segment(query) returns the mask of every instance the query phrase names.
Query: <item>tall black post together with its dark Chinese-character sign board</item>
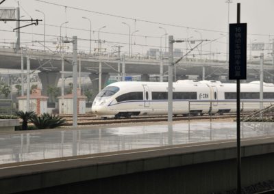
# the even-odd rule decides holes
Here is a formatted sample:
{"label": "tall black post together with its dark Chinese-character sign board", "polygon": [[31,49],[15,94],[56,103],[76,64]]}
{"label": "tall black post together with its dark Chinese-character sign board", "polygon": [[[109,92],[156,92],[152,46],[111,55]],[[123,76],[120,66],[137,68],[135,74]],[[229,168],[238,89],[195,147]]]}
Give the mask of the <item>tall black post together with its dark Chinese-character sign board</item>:
{"label": "tall black post together with its dark Chinese-character sign board", "polygon": [[240,3],[237,3],[237,23],[229,25],[229,79],[237,80],[237,193],[240,194],[240,79],[247,79],[247,24],[240,23]]}

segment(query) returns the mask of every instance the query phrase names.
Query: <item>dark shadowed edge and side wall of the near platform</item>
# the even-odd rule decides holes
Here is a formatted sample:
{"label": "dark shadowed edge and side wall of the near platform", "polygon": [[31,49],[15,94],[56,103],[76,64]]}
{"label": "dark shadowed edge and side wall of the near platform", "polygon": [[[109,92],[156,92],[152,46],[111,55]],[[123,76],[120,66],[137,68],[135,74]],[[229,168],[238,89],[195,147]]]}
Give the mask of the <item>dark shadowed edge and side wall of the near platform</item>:
{"label": "dark shadowed edge and side wall of the near platform", "polygon": [[[274,137],[242,140],[242,186],[274,180]],[[234,140],[1,165],[1,193],[215,193],[236,189]]]}

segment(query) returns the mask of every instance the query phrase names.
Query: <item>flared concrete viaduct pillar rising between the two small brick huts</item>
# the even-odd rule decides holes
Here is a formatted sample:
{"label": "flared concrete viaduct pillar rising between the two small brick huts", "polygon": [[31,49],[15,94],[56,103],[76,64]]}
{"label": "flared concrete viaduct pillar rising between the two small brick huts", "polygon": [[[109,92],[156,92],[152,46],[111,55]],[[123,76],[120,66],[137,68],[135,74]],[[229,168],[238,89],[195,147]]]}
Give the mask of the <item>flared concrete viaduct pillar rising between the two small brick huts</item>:
{"label": "flared concrete viaduct pillar rising between the two small brick huts", "polygon": [[49,85],[51,86],[57,86],[58,81],[61,77],[60,72],[39,72],[38,76],[40,78],[40,81],[42,83],[42,95],[48,96],[47,94],[47,88]]}

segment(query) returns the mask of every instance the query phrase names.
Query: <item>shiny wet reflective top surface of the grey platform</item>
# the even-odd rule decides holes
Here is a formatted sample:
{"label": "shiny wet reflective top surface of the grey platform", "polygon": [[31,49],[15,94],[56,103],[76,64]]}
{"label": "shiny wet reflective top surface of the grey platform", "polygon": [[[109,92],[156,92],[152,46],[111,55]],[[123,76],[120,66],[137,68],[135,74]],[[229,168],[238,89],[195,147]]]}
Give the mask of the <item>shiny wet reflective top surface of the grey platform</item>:
{"label": "shiny wet reflective top surface of the grey platform", "polygon": [[[274,123],[241,123],[241,138],[274,135]],[[33,130],[0,135],[0,164],[236,139],[236,122]]]}

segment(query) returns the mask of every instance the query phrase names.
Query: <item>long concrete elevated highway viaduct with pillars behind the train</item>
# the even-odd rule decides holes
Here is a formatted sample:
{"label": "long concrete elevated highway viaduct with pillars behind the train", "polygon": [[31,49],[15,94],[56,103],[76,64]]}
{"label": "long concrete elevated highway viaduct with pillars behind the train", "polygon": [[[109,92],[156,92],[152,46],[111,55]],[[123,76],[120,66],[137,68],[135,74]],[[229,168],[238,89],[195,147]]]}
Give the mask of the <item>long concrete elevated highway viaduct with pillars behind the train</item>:
{"label": "long concrete elevated highway viaduct with pillars behind the train", "polygon": [[[62,57],[63,56],[63,57]],[[0,47],[0,68],[3,69],[21,69],[21,59],[23,58],[24,70],[26,70],[26,57],[30,59],[31,70],[38,70],[38,75],[42,82],[42,94],[47,94],[48,85],[57,85],[62,72],[62,59],[64,59],[64,72],[72,72],[72,53],[45,52],[40,50],[24,49],[16,51],[10,47]],[[142,81],[149,81],[149,75],[159,75],[160,59],[127,57],[123,63],[122,57],[117,55],[86,55],[79,53],[78,66],[81,64],[82,72],[89,72],[92,81],[93,91],[98,91],[99,77],[99,61],[101,60],[101,85],[104,85],[110,74],[138,74],[141,75]],[[125,64],[125,71],[123,71]],[[167,74],[168,59],[163,60],[162,74]],[[183,59],[175,68],[176,80],[188,79],[189,75],[197,75],[201,79],[203,74],[203,66],[205,67],[206,79],[219,80],[221,76],[228,76],[228,64],[225,61],[199,60],[199,59]],[[274,68],[271,60],[264,60],[265,81],[274,83]],[[260,77],[260,59],[248,61],[247,65],[248,79],[247,81],[258,80]],[[266,79],[269,78],[269,79]]]}

